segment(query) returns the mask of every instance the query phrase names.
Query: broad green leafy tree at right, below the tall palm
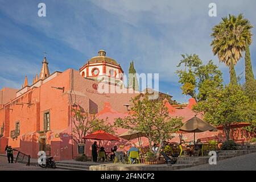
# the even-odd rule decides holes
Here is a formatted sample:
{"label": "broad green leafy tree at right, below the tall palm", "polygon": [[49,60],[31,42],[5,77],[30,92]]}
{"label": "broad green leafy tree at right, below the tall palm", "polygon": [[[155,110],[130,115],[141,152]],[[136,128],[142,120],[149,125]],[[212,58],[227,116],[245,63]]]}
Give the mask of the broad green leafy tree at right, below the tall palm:
{"label": "broad green leafy tree at right, below the tall palm", "polygon": [[[193,106],[193,110],[204,113],[204,120],[214,126],[224,126],[226,139],[229,140],[230,124],[234,122],[253,122],[255,111],[251,110],[250,99],[240,85],[229,84],[222,89],[216,89],[207,100]],[[248,120],[246,120],[248,119]]]}

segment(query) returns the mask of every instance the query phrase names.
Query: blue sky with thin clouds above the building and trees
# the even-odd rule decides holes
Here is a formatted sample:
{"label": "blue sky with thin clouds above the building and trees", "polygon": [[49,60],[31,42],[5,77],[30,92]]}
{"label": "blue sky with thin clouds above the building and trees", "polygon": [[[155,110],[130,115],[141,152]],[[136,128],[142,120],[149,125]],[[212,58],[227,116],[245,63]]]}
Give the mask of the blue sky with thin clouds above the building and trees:
{"label": "blue sky with thin clouds above the building and trees", "polygon": [[[46,17],[38,16],[38,4],[46,3]],[[217,17],[208,15],[209,3],[217,5]],[[20,88],[25,75],[31,83],[40,72],[47,52],[50,72],[79,69],[104,49],[127,73],[134,60],[138,73],[159,73],[159,90],[187,102],[175,74],[181,53],[210,59],[229,82],[228,68],[213,56],[212,27],[228,14],[243,13],[256,26],[256,1],[36,1],[0,0],[0,88]],[[256,74],[255,28],[250,46]],[[242,72],[244,59],[236,65]]]}

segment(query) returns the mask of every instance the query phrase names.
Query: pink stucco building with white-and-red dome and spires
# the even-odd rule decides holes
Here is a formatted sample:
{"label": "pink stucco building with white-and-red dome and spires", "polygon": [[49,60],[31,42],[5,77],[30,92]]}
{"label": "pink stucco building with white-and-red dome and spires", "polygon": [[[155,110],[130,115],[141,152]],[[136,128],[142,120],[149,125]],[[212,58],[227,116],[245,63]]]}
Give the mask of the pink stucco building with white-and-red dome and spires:
{"label": "pink stucco building with white-and-red dome and spires", "polygon": [[[72,140],[72,106],[89,113],[96,112],[99,118],[108,117],[113,123],[115,118],[128,115],[130,99],[139,92],[127,89],[122,83],[121,65],[114,59],[106,57],[105,51],[90,59],[76,71],[67,69],[64,72],[49,73],[48,61],[44,57],[40,75],[36,75],[29,85],[25,78],[22,89],[3,88],[0,93],[0,153],[5,153],[8,144],[37,158],[38,151],[46,151],[56,160],[72,159],[77,155],[77,146]],[[122,93],[101,93],[98,88],[118,88]],[[191,110],[195,100],[183,109],[175,109],[166,103],[171,115],[192,118]],[[125,132],[119,129],[117,135]],[[178,140],[178,134],[174,134]],[[197,137],[214,136],[218,133],[200,133]],[[193,134],[186,134],[189,140]],[[119,141],[123,142],[123,141]],[[136,142],[136,141],[135,141]],[[147,140],[142,140],[147,144]],[[90,155],[90,141],[86,143],[86,154]],[[115,143],[109,143],[112,146]],[[107,147],[108,148],[108,147]]]}

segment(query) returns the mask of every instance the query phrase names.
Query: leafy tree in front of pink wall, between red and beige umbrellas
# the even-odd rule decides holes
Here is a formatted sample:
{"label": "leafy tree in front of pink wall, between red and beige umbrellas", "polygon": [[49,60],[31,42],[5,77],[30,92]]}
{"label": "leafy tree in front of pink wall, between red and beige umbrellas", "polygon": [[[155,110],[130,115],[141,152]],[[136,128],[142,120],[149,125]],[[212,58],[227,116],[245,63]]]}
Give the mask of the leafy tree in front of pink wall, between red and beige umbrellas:
{"label": "leafy tree in front of pink wall, between red and beige umbrellas", "polygon": [[156,154],[159,156],[162,142],[173,138],[172,133],[179,130],[182,118],[170,117],[163,101],[149,100],[147,95],[140,94],[131,101],[131,114],[115,119],[115,126],[145,133],[151,150],[152,142],[159,143]]}

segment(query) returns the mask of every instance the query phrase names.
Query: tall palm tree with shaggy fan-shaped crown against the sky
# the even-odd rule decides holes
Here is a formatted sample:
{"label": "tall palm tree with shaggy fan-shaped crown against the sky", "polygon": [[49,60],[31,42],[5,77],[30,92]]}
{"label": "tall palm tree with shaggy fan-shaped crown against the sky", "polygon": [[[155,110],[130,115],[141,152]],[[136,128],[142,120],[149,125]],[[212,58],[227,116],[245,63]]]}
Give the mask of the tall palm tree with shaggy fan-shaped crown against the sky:
{"label": "tall palm tree with shaggy fan-shaped crown against the sky", "polygon": [[213,40],[210,46],[212,46],[214,55],[217,54],[218,59],[229,67],[231,84],[237,84],[234,65],[245,51],[246,40],[249,45],[251,44],[251,28],[253,26],[250,21],[239,14],[237,17],[229,15],[229,17],[222,18],[222,21],[212,29]]}

